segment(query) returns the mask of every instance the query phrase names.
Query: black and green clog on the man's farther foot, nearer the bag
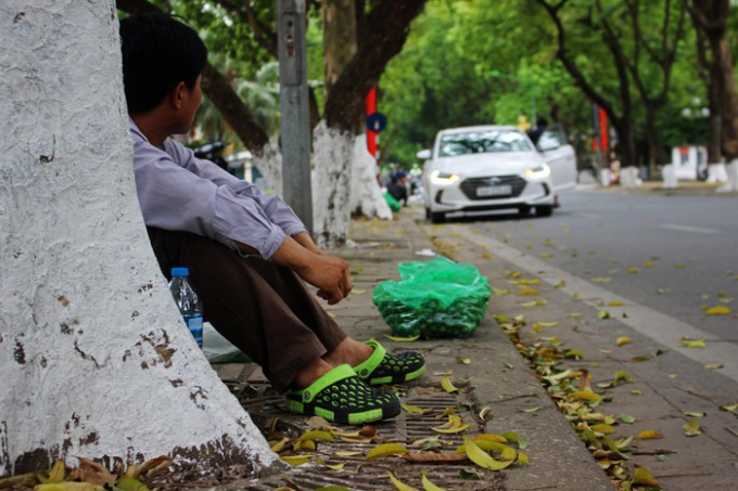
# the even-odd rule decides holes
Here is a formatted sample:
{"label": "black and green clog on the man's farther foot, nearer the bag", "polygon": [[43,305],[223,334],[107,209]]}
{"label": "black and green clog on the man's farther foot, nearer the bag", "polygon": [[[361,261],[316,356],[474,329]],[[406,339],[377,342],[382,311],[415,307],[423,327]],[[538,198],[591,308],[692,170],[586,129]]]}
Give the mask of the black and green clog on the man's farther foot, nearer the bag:
{"label": "black and green clog on the man's farther foot, nearer the bag", "polygon": [[425,360],[417,351],[390,354],[377,341],[366,341],[374,352],[364,363],[354,366],[354,372],[369,385],[403,384],[415,380],[425,372]]}

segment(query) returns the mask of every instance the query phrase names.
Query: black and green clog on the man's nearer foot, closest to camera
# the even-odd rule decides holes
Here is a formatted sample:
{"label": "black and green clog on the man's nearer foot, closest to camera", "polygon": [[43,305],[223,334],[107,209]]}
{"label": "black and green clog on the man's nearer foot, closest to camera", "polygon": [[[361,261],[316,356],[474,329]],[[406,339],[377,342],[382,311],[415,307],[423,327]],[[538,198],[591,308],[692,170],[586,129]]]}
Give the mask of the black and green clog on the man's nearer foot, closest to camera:
{"label": "black and green clog on the man's nearer foot, closest to camera", "polygon": [[369,387],[349,365],[340,365],[308,388],[287,392],[287,409],[348,425],[386,419],[399,414],[394,392]]}

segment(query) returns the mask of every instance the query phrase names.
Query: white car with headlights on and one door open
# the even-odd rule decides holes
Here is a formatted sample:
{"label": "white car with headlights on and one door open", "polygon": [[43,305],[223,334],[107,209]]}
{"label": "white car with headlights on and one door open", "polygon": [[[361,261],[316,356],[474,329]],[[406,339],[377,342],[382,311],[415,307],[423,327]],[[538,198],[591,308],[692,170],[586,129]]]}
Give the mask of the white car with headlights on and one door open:
{"label": "white car with headlights on and one door open", "polygon": [[427,218],[517,208],[550,216],[557,192],[576,184],[576,157],[560,127],[547,127],[538,146],[514,126],[473,126],[438,132],[422,182]]}

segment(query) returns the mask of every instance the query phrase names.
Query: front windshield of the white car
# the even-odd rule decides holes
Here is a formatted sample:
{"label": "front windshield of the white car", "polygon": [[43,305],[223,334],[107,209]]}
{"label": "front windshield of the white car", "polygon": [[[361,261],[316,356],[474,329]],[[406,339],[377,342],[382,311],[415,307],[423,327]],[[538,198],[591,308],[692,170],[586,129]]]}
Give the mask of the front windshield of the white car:
{"label": "front windshield of the white car", "polygon": [[530,152],[532,150],[530,140],[521,131],[497,129],[444,134],[441,137],[438,156],[454,157],[467,154]]}

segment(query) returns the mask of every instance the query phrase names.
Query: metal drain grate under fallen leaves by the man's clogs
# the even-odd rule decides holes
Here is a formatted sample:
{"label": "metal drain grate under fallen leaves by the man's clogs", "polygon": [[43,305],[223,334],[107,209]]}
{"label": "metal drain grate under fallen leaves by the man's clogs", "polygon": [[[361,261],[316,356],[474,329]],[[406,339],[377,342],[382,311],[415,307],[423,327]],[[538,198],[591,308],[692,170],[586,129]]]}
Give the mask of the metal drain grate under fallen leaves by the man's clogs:
{"label": "metal drain grate under fallen leaves by the man's clogs", "polygon": [[[253,388],[253,386],[251,387]],[[427,414],[412,414],[403,411],[392,421],[373,424],[372,426],[378,429],[378,436],[381,436],[384,442],[400,443],[415,452],[416,450],[409,447],[415,441],[440,437],[442,440],[453,443],[444,447],[444,453],[453,452],[456,447],[463,442],[462,435],[440,435],[431,429],[445,423],[446,418],[440,419],[436,416],[442,415],[448,408],[455,408],[456,414],[462,416],[466,423],[471,424],[465,431],[468,437],[482,432],[484,425],[479,425],[473,419],[469,411],[470,403],[465,399],[463,393],[450,395],[433,387],[413,387],[413,391],[416,393],[403,398],[403,402],[432,411]],[[290,437],[296,437],[308,429],[303,416],[293,415],[283,410],[284,399],[268,386],[256,392],[253,390],[241,391],[239,399],[252,415],[254,423],[263,431],[266,426],[275,422],[275,418],[279,418],[280,430]],[[304,464],[293,467],[289,475],[269,476],[247,483],[239,483],[233,489],[262,491],[287,486],[298,490],[313,490],[338,486],[352,491],[394,490],[395,487],[390,481],[387,471],[392,471],[400,481],[417,489],[423,489],[421,471],[424,471],[434,484],[448,490],[504,491],[506,489],[504,475],[482,469],[470,462],[420,464],[407,462],[398,456],[387,456],[367,462],[365,460],[366,454],[378,444],[345,442],[338,439],[334,442],[321,441],[318,442],[314,452],[313,462],[323,461],[331,465],[344,464],[340,471],[321,468],[315,464]],[[360,452],[360,454],[358,456],[338,456],[336,452]],[[473,470],[482,478],[465,479],[460,475],[462,469]]]}

